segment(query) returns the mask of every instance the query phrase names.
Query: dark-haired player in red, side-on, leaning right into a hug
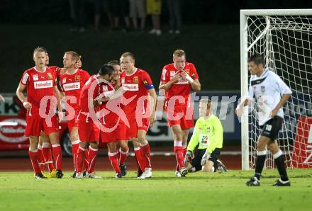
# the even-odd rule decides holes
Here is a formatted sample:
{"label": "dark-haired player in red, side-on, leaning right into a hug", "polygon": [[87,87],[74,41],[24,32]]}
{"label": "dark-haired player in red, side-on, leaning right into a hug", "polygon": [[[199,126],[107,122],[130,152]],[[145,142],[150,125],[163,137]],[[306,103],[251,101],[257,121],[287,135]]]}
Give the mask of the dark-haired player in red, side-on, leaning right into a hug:
{"label": "dark-haired player in red, side-on, leaning right into a hug", "polygon": [[77,173],[76,178],[83,178],[82,163],[84,161],[84,152],[87,150],[89,142],[89,167],[87,169],[87,176],[89,178],[101,178],[94,172],[96,161],[96,154],[99,150],[99,121],[97,119],[96,111],[101,104],[101,81],[111,80],[113,74],[113,67],[104,64],[99,70],[99,73],[93,75],[84,84],[79,98],[80,111],[77,118],[79,139],[79,148],[77,151]]}

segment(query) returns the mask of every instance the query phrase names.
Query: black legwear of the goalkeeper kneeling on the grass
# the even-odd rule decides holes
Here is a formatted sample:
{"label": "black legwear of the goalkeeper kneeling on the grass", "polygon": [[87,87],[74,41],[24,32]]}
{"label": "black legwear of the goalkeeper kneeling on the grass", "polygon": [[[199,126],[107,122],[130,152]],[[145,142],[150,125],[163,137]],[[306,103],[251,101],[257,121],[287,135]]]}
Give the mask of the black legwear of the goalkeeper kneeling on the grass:
{"label": "black legwear of the goalkeeper kneeling on the grass", "polygon": [[[206,149],[196,149],[194,152],[194,159],[191,160],[191,166],[195,167],[196,171],[201,170],[201,159],[204,156]],[[216,148],[211,153],[209,161],[213,161],[214,171],[218,169],[217,159],[220,157],[221,148]]]}

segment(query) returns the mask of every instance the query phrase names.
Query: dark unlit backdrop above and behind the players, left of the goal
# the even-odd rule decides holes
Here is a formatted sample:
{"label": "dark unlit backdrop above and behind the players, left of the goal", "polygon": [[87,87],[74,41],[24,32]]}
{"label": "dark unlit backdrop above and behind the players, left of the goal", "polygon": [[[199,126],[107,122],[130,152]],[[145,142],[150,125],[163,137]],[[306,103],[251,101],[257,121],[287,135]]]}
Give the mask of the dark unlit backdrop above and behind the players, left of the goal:
{"label": "dark unlit backdrop above and behind the players, left of the goal", "polygon": [[[94,2],[86,2],[87,30],[71,33],[69,1],[2,0],[0,6],[0,93],[15,92],[23,71],[33,67],[37,46],[48,49],[50,64],[62,67],[65,51],[82,55],[83,69],[95,73],[101,64],[121,53],[135,54],[136,66],[160,81],[163,65],[172,62],[172,52],[181,48],[198,69],[206,91],[240,89],[240,9],[311,8],[312,1],[221,1],[183,0],[181,35],[169,35],[167,1],[162,0],[163,35],[108,32],[103,14],[100,30],[94,30]],[[122,21],[121,21],[122,22]]]}

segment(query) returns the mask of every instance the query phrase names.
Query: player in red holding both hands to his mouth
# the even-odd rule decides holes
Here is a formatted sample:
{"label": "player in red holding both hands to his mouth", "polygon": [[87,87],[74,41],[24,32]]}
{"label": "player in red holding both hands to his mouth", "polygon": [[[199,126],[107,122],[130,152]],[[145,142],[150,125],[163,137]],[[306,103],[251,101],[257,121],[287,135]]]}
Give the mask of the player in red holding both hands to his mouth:
{"label": "player in red holding both hands to his mouth", "polygon": [[185,176],[184,155],[189,128],[194,127],[190,91],[201,90],[199,76],[194,64],[186,62],[184,50],[175,50],[173,63],[162,69],[160,92],[165,90],[165,110],[168,126],[174,137],[174,154],[177,159],[176,176]]}

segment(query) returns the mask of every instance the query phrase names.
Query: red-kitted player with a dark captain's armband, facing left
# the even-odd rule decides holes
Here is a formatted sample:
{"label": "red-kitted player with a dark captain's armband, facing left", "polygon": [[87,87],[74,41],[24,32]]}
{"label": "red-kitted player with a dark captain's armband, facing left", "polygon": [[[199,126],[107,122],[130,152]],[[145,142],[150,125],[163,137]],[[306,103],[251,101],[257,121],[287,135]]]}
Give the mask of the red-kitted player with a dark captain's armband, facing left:
{"label": "red-kitted player with a dark captain's armband, facing left", "polygon": [[132,53],[123,53],[120,62],[123,105],[128,118],[128,125],[125,122],[128,126],[126,136],[132,139],[135,156],[140,169],[144,171],[139,178],[150,178],[150,144],[145,136],[148,127],[152,127],[155,122],[156,91],[150,75],[135,67],[135,57]]}

